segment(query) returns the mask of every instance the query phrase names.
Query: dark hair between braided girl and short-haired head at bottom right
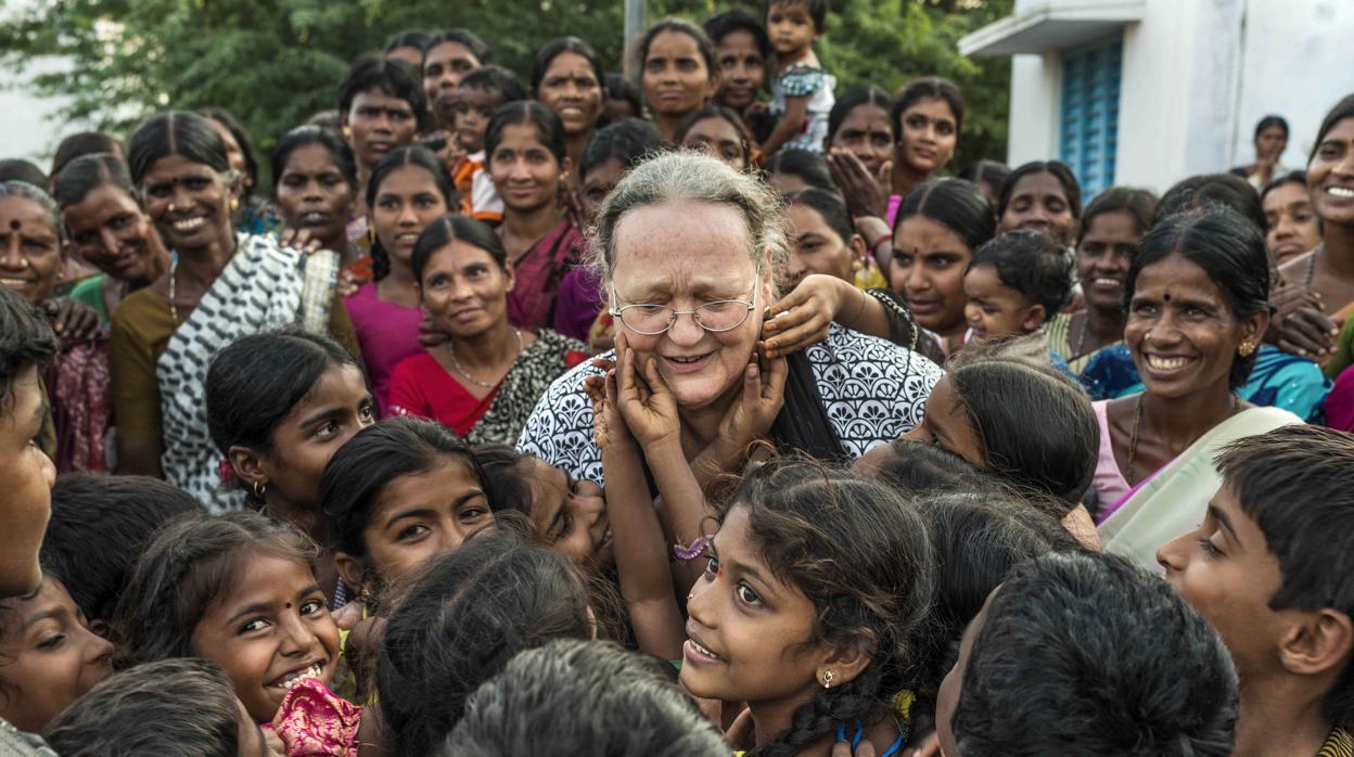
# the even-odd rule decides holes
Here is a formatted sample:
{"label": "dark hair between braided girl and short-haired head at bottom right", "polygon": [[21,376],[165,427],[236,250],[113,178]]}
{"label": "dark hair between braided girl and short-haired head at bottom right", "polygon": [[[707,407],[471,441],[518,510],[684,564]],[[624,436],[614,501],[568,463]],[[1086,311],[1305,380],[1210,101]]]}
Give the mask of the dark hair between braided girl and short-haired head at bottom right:
{"label": "dark hair between braided girl and short-haired head at bottom right", "polygon": [[921,701],[934,701],[940,683],[959,659],[964,628],[1010,569],[1045,553],[1076,551],[1080,546],[1063,524],[1014,494],[915,496],[936,555],[936,604],[930,628],[922,635],[917,695]]}

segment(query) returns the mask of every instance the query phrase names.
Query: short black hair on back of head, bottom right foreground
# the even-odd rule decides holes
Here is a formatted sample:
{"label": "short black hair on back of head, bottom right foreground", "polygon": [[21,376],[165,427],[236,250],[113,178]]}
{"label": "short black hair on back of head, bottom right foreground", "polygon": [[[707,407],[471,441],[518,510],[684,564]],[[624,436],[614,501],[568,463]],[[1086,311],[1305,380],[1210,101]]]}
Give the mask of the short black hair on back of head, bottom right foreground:
{"label": "short black hair on back of head, bottom right foreground", "polygon": [[1164,581],[1099,553],[1016,566],[968,653],[953,731],[964,757],[1225,757],[1236,670]]}

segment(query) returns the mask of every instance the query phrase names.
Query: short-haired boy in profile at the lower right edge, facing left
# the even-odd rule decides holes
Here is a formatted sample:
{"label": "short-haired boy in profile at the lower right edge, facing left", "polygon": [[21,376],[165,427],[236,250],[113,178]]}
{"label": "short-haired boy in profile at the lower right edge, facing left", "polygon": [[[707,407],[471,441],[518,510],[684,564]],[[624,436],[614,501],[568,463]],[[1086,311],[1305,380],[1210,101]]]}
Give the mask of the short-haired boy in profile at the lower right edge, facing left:
{"label": "short-haired boy in profile at the lower right edge, facing left", "polygon": [[1354,436],[1289,425],[1227,446],[1166,580],[1240,673],[1236,757],[1354,754]]}

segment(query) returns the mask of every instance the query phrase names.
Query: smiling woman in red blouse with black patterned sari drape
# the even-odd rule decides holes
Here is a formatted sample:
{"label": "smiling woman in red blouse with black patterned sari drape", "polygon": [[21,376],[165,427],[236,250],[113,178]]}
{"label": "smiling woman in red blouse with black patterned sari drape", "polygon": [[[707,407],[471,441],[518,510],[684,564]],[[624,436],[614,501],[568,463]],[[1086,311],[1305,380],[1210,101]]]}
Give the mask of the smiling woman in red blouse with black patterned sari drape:
{"label": "smiling woman in red blouse with black patterned sari drape", "polygon": [[451,339],[395,366],[393,414],[433,418],[473,443],[512,444],[550,382],[588,358],[581,341],[508,322],[517,280],[506,257],[493,229],[462,215],[418,236],[414,286],[432,328]]}

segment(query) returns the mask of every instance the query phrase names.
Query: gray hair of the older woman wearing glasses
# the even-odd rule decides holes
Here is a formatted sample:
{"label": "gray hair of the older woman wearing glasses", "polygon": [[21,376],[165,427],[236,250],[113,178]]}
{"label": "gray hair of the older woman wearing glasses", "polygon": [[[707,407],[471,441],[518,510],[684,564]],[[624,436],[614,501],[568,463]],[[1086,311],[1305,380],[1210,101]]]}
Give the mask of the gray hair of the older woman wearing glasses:
{"label": "gray hair of the older woman wearing glasses", "polygon": [[784,204],[779,195],[749,173],[739,173],[704,153],[677,150],[662,153],[636,165],[607,195],[589,232],[592,264],[609,282],[616,268],[616,229],[630,211],[682,200],[727,204],[747,222],[751,245],[747,259],[758,274],[766,272],[765,252],[770,251],[772,271],[785,269]]}

